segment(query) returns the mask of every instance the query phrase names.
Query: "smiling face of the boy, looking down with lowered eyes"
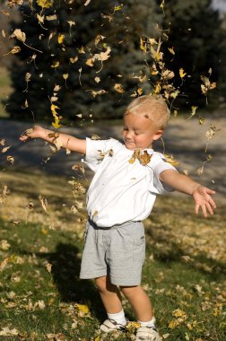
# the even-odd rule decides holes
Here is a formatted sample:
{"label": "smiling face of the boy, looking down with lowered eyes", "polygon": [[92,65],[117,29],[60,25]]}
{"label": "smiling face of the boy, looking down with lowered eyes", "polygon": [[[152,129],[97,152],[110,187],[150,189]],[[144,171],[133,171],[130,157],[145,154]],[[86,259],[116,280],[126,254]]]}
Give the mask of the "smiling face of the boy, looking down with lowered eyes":
{"label": "smiling face of the boy, looking down with lowered eyes", "polygon": [[161,137],[163,131],[156,128],[150,118],[143,114],[128,113],[124,117],[122,136],[127,149],[152,148],[152,142]]}

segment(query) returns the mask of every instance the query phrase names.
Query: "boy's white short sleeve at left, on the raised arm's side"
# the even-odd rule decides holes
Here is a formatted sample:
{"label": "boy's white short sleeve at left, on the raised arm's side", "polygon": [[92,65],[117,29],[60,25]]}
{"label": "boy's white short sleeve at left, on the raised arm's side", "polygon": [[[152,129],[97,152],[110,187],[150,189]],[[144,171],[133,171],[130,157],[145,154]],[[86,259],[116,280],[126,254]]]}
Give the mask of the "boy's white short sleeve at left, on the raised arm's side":
{"label": "boy's white short sleeve at left, on the raised arm's side", "polygon": [[117,140],[91,140],[86,138],[86,154],[84,163],[94,172],[96,172],[104,157],[114,148]]}

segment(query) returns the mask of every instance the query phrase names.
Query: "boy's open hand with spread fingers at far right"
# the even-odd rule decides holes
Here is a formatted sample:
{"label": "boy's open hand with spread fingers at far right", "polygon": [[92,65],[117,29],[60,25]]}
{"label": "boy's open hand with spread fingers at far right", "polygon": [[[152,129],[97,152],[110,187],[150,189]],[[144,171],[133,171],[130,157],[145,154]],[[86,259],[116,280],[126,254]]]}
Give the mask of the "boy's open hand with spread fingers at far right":
{"label": "boy's open hand with spread fingers at far right", "polygon": [[213,209],[216,208],[213,198],[211,197],[213,194],[215,194],[214,190],[201,185],[194,190],[192,196],[194,197],[196,203],[196,214],[198,214],[199,207],[202,207],[205,217],[207,216],[207,212],[209,214],[213,214]]}

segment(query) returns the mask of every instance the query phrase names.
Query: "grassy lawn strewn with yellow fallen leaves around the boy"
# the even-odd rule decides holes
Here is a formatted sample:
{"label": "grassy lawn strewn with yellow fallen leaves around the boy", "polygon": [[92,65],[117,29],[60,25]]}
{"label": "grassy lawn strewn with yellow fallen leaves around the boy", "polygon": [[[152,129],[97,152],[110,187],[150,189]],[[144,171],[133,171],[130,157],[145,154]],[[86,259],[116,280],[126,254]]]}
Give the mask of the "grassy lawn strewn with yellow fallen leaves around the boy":
{"label": "grassy lawn strewn with yellow fallen leaves around the boy", "polygon": [[[73,214],[69,179],[2,172],[0,339],[133,340],[103,336],[105,319],[92,281],[79,279],[85,209]],[[41,197],[39,197],[39,195]],[[84,197],[80,198],[84,202]],[[190,197],[160,197],[145,223],[143,287],[163,339],[222,341],[225,335],[225,211],[207,219]],[[135,316],[125,300],[126,315]]]}

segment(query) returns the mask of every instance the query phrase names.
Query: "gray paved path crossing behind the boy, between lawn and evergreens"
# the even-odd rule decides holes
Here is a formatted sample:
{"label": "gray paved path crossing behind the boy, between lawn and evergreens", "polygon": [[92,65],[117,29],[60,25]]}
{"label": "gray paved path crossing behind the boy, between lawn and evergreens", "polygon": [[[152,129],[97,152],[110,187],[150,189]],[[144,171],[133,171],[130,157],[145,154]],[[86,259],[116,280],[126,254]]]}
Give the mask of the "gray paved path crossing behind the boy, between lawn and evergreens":
{"label": "gray paved path crossing behind the boy, between lawn and evergreens", "polygon": [[[205,132],[210,126],[221,129],[216,133],[209,143],[208,153],[213,155],[213,160],[204,166],[204,173],[198,177],[196,170],[203,164],[206,155],[204,153],[207,142]],[[0,138],[4,138],[7,145],[12,145],[9,153],[13,155],[15,163],[14,169],[17,170],[45,170],[48,173],[64,174],[73,176],[72,165],[81,160],[80,155],[65,151],[52,154],[48,145],[43,141],[32,140],[29,143],[21,143],[19,136],[30,127],[27,122],[8,121],[0,119]],[[121,127],[87,127],[64,128],[61,131],[74,136],[85,137],[97,134],[100,137],[119,137]],[[206,119],[204,125],[200,126],[196,119],[186,120],[185,118],[172,118],[170,125],[164,134],[166,153],[173,154],[174,158],[180,162],[179,170],[188,170],[193,179],[198,179],[205,186],[211,186],[217,191],[217,201],[219,204],[225,202],[226,198],[226,118],[213,117]],[[162,152],[162,144],[158,143],[156,148]],[[47,160],[48,156],[50,160]],[[214,184],[213,184],[214,183]]]}

